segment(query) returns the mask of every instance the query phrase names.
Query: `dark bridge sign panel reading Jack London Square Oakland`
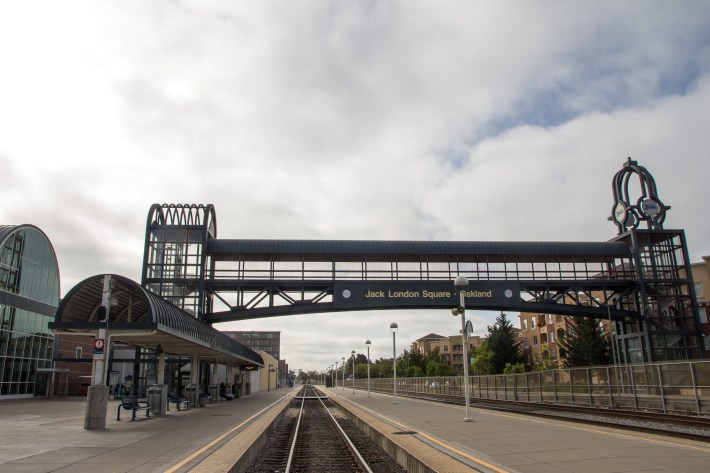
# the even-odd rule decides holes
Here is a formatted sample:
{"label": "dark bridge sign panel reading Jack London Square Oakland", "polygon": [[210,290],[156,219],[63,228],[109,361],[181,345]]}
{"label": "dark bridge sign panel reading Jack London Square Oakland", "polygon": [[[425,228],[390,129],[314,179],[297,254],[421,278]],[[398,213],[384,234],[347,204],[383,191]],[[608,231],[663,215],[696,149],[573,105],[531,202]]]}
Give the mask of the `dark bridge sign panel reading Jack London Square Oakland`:
{"label": "dark bridge sign panel reading Jack London Square Oakland", "polygon": [[[458,305],[459,294],[453,282],[446,281],[372,281],[342,282],[334,287],[333,301],[337,308],[345,307],[452,307]],[[510,304],[519,297],[516,283],[474,282],[464,292],[471,307]]]}

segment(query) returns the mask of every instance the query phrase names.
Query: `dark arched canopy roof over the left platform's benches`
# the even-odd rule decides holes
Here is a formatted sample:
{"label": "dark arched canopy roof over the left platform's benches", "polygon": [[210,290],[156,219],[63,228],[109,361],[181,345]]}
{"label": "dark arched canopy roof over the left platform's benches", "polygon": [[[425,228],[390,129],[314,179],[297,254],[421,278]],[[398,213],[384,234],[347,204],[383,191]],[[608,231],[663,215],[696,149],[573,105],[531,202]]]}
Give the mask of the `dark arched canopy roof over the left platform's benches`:
{"label": "dark arched canopy roof over the left platform's benches", "polygon": [[261,356],[219,330],[142,288],[123,276],[111,275],[108,322],[100,322],[104,275],[77,284],[62,299],[49,328],[58,333],[97,336],[106,328],[111,343],[197,355],[225,365],[264,366]]}

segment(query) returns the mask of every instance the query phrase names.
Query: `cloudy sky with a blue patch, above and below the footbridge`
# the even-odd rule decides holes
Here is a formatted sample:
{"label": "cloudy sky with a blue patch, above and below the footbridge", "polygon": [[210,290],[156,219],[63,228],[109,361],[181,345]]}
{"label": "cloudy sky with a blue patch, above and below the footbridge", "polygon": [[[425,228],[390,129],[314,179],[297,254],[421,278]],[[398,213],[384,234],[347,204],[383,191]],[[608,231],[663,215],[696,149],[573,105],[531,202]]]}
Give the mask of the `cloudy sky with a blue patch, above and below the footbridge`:
{"label": "cloudy sky with a blue patch, above and below the footbridge", "polygon": [[[62,295],[140,281],[153,203],[214,204],[220,238],[606,241],[628,156],[710,255],[707,1],[2,1],[0,68],[0,224],[47,234]],[[391,322],[398,352],[460,328],[217,327],[322,370],[391,356]]]}

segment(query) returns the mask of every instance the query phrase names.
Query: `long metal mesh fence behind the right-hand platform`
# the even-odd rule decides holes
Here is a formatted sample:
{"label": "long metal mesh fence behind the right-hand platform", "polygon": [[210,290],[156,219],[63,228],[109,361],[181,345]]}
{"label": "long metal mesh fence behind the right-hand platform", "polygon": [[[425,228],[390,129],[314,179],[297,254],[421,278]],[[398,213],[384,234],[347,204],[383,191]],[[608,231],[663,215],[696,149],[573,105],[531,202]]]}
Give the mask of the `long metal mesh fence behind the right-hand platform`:
{"label": "long metal mesh fence behind the right-hand platform", "polygon": [[[392,378],[370,378],[370,389],[391,393]],[[355,387],[367,390],[367,379]],[[338,380],[342,387],[343,381]],[[352,388],[353,380],[345,380]],[[710,361],[568,368],[469,376],[472,400],[598,407],[710,416]],[[464,396],[463,376],[397,378],[397,393],[435,398]]]}

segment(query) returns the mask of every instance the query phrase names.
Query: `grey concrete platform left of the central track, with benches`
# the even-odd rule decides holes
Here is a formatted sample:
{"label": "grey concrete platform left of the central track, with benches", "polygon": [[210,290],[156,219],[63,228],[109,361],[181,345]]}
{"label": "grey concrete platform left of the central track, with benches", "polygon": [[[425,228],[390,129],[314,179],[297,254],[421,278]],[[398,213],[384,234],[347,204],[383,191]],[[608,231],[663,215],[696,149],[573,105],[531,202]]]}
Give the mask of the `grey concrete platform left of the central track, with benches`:
{"label": "grey concrete platform left of the central track, with benches", "polygon": [[[189,471],[194,452],[219,439],[290,390],[259,392],[206,407],[147,419],[129,411],[116,421],[109,401],[106,429],[84,430],[85,398],[0,401],[0,471],[119,473]],[[177,466],[176,466],[177,465]]]}

